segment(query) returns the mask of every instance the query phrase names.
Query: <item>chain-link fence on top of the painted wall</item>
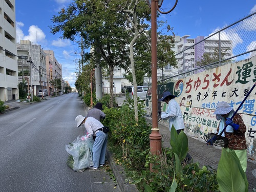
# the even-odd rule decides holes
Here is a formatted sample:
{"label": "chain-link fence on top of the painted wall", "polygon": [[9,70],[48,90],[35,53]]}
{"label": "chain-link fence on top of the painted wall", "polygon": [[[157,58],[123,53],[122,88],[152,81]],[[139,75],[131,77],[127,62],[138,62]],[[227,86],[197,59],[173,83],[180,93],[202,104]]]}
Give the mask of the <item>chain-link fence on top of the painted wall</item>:
{"label": "chain-link fence on top of the painted wall", "polygon": [[160,83],[174,81],[201,71],[256,55],[256,12],[207,37],[176,38],[178,68],[158,72]]}

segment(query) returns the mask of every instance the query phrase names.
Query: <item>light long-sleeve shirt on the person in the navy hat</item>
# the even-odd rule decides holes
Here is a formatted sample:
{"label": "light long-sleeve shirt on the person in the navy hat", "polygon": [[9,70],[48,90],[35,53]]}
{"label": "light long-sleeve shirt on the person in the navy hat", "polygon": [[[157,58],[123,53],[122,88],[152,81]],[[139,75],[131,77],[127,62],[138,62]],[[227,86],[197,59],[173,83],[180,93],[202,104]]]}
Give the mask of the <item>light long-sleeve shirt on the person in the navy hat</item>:
{"label": "light long-sleeve shirt on the person in the navy hat", "polygon": [[173,125],[176,130],[185,128],[180,105],[175,99],[169,100],[167,110],[162,112],[161,118],[164,120],[169,119],[169,130],[172,129]]}

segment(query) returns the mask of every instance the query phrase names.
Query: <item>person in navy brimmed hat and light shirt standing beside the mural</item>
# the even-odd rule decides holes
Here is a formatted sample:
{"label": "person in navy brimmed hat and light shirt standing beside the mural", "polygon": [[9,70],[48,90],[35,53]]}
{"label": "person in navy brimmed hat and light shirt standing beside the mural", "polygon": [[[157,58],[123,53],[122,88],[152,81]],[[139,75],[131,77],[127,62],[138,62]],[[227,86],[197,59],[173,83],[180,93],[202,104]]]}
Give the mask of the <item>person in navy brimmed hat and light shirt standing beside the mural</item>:
{"label": "person in navy brimmed hat and light shirt standing beside the mural", "polygon": [[[180,105],[174,99],[175,97],[177,96],[170,94],[168,91],[164,92],[159,101],[164,101],[166,104],[168,104],[167,110],[165,112],[158,112],[158,114],[161,115],[161,119],[169,119],[169,130],[172,129],[172,126],[174,125],[177,133],[179,134],[181,130],[184,131],[185,125]],[[188,162],[191,159],[192,157],[187,153],[185,161]]]}

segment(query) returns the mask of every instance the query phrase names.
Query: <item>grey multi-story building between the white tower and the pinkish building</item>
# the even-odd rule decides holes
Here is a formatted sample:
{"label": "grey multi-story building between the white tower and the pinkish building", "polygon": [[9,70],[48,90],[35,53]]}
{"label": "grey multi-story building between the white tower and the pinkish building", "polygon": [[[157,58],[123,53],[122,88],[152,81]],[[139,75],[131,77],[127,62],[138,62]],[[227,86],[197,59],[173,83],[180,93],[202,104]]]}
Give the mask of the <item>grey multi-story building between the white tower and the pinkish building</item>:
{"label": "grey multi-story building between the white tower and the pinkish building", "polygon": [[[29,40],[20,40],[17,44],[19,82],[26,77],[30,93],[38,95],[39,90],[47,89],[46,53],[40,45]],[[31,89],[32,88],[32,89]]]}

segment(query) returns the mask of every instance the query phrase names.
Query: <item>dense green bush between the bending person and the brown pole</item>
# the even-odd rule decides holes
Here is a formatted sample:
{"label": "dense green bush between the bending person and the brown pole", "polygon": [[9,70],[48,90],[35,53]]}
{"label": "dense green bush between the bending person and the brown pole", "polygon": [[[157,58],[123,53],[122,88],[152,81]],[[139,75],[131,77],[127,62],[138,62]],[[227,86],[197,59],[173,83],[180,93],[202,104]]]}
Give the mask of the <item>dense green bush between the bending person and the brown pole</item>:
{"label": "dense green bush between the bending person and the brown pole", "polygon": [[134,119],[132,103],[123,104],[121,108],[105,108],[103,111],[106,115],[103,124],[110,127],[109,143],[115,148],[113,152],[121,151],[117,158],[134,170],[144,168],[150,148],[151,126],[145,121],[144,105],[138,104],[138,110],[138,122]]}

